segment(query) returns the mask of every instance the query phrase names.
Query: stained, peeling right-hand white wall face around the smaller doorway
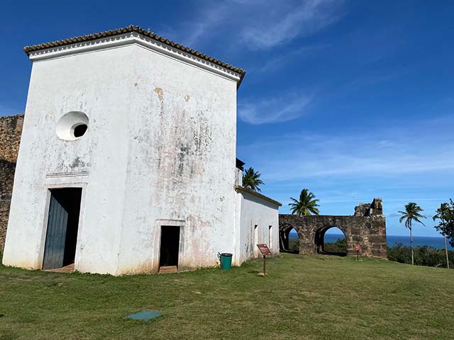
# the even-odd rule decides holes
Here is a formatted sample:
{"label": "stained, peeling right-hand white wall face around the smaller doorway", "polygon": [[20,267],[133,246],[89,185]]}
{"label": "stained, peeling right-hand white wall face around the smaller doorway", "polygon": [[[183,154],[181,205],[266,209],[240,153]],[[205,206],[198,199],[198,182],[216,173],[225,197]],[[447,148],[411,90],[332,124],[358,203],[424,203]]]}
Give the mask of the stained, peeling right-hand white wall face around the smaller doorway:
{"label": "stained, peeling right-hand white wall face around the smaller doorway", "polygon": [[118,271],[157,271],[161,225],[180,226],[179,270],[233,252],[236,81],[134,51]]}

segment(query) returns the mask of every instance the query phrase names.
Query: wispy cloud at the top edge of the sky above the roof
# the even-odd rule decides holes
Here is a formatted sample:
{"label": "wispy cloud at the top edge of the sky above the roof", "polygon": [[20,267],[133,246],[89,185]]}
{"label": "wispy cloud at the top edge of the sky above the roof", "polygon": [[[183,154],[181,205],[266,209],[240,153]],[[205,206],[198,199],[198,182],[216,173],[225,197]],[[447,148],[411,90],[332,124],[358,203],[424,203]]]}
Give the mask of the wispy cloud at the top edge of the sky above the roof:
{"label": "wispy cloud at the top edge of the sky above the roof", "polygon": [[[269,49],[305,37],[335,23],[343,15],[341,0],[274,2],[231,0],[198,1],[192,21],[182,23],[184,45],[200,46],[207,40]],[[183,38],[181,38],[183,37]],[[184,38],[185,37],[185,38]]]}

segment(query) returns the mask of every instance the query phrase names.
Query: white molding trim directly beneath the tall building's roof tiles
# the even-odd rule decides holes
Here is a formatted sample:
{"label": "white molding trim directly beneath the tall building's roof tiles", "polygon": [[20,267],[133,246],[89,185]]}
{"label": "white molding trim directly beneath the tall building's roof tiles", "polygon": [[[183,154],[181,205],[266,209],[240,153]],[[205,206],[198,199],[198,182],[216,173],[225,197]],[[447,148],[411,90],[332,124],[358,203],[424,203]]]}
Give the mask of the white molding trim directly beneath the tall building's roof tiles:
{"label": "white molding trim directly beneath the tall building's roof tiles", "polygon": [[75,42],[70,45],[62,45],[50,47],[45,50],[37,50],[30,53],[29,58],[32,62],[38,62],[41,60],[49,60],[53,58],[65,57],[67,55],[76,55],[85,52],[94,52],[98,50],[106,50],[116,47],[123,47],[126,45],[140,45],[153,50],[162,55],[167,55],[176,60],[192,64],[201,69],[219,74],[223,77],[236,81],[237,83],[241,79],[241,75],[237,72],[222,67],[221,65],[210,62],[203,58],[192,55],[191,53],[184,52],[175,47],[169,46],[163,42],[154,40],[149,37],[145,37],[137,32],[129,32],[120,35],[114,35],[111,37],[100,38],[96,40],[87,40],[84,42]]}

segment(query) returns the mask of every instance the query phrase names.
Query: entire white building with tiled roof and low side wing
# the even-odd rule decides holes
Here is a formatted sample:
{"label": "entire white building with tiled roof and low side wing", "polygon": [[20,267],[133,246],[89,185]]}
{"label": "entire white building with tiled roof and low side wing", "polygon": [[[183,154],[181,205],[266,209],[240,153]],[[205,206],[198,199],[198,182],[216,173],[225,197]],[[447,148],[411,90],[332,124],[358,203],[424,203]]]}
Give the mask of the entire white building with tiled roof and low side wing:
{"label": "entire white building with tiled roof and low side wing", "polygon": [[280,203],[238,181],[243,69],[136,26],[24,50],[5,265],[121,275],[278,254]]}

